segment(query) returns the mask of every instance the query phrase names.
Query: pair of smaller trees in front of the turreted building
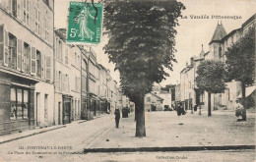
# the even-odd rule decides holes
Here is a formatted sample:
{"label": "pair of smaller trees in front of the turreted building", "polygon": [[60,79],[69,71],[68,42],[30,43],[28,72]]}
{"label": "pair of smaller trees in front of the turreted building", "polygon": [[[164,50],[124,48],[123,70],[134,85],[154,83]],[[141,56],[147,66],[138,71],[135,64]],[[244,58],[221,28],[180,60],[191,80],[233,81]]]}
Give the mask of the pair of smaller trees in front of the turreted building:
{"label": "pair of smaller trees in front of the turreted building", "polygon": [[[242,104],[245,107],[245,87],[255,81],[255,27],[224,53],[225,63],[221,61],[204,61],[197,70],[197,85],[208,92],[208,116],[211,116],[211,93],[222,93],[227,81],[240,81],[242,87]],[[246,115],[245,119],[246,120]]]}

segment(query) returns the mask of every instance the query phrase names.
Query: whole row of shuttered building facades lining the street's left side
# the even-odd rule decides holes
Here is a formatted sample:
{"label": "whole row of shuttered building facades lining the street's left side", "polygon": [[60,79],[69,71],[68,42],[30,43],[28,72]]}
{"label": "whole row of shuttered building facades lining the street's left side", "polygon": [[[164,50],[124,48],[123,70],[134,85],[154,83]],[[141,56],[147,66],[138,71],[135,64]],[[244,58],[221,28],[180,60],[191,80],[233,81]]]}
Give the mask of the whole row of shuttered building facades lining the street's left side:
{"label": "whole row of shuttered building facades lining the street's left side", "polygon": [[54,30],[54,0],[0,0],[0,135],[109,113],[116,84],[91,47]]}

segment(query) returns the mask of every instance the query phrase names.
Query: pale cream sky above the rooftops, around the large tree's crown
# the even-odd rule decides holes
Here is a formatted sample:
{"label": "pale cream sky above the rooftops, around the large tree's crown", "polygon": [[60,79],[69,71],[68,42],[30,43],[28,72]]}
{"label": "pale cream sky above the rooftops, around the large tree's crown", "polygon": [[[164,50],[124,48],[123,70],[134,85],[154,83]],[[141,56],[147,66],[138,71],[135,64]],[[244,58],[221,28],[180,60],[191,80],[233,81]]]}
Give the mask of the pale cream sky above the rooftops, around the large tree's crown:
{"label": "pale cream sky above the rooftops, around the large tree's crown", "polygon": [[[82,0],[75,0],[82,1]],[[85,0],[84,0],[85,1]],[[177,64],[173,64],[173,71],[166,70],[169,78],[161,81],[160,85],[177,83],[180,71],[185,68],[186,62],[194,55],[198,56],[203,49],[209,51],[209,42],[212,39],[218,22],[224,25],[226,33],[241,27],[253,14],[256,14],[256,0],[177,0],[182,2],[186,10],[182,11],[183,19],[179,18],[177,30],[176,50],[174,53]],[[67,28],[68,0],[55,0],[55,27]],[[191,19],[190,16],[209,16],[209,19]],[[241,19],[212,19],[212,16],[237,16]],[[184,19],[187,17],[187,19]],[[119,82],[119,73],[114,71],[114,64],[109,63],[107,54],[102,47],[107,43],[106,36],[93,48],[97,54],[97,62],[110,70],[113,80]],[[119,83],[118,83],[119,84]]]}

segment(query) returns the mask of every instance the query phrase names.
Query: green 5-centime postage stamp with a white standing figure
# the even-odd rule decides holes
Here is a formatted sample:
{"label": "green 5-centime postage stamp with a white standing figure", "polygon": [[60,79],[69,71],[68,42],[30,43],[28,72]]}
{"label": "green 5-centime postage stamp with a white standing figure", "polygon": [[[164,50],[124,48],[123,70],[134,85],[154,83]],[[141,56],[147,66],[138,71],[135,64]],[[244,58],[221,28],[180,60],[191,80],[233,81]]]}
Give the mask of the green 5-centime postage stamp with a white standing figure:
{"label": "green 5-centime postage stamp with a white standing figure", "polygon": [[69,4],[67,42],[98,44],[101,38],[102,3],[73,2]]}

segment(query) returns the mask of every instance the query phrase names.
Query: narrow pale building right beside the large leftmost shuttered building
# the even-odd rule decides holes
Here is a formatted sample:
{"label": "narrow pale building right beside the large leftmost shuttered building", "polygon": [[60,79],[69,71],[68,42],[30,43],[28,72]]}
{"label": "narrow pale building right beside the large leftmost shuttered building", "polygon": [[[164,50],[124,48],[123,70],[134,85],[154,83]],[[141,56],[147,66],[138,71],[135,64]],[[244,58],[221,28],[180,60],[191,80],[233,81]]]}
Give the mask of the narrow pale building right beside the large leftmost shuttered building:
{"label": "narrow pale building right beside the large leftmost shuttered building", "polygon": [[55,30],[55,123],[81,119],[81,53],[83,48],[66,43],[66,29]]}

